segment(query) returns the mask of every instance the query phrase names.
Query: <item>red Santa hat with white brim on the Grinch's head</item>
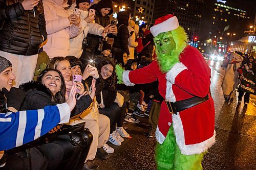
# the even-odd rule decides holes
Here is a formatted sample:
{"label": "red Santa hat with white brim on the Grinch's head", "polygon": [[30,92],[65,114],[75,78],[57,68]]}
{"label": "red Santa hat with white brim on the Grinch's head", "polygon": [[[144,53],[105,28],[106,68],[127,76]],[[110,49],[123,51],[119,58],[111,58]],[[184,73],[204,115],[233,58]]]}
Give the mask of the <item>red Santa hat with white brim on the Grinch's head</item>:
{"label": "red Santa hat with white brim on the Grinch's head", "polygon": [[150,28],[151,33],[156,37],[160,33],[173,31],[179,27],[179,21],[176,16],[167,14],[156,19],[153,27]]}

